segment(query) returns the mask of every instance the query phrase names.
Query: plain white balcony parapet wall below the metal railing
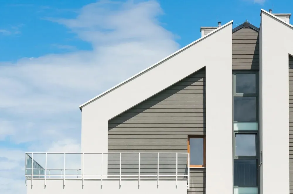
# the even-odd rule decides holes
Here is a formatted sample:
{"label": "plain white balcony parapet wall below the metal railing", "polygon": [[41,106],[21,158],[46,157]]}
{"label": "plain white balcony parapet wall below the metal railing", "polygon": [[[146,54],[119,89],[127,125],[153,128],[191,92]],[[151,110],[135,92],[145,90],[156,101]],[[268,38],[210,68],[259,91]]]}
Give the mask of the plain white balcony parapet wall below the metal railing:
{"label": "plain white balcony parapet wall below the metal railing", "polygon": [[100,180],[84,180],[82,186],[81,179],[66,180],[63,187],[63,179],[38,179],[33,180],[31,187],[30,180],[27,182],[27,194],[186,194],[186,180],[179,180],[176,186],[176,181],[159,181],[157,186],[156,180],[141,180],[139,187],[138,181],[122,180],[119,186],[119,180],[103,180],[101,186]]}

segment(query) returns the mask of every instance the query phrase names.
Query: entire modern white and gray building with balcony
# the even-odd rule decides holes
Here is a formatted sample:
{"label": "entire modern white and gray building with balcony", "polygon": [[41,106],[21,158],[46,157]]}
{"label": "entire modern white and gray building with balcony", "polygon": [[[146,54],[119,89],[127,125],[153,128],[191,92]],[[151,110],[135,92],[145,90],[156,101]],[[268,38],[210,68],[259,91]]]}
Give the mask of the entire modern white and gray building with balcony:
{"label": "entire modern white and gray building with balcony", "polygon": [[82,153],[27,153],[28,194],[293,193],[290,15],[201,27],[81,105]]}

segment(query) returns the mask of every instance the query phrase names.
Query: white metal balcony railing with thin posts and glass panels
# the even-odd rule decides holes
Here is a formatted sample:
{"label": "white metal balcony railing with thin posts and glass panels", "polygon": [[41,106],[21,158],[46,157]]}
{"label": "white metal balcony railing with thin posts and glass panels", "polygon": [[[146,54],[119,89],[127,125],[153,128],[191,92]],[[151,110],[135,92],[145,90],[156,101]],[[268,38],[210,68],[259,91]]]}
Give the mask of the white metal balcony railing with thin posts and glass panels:
{"label": "white metal balcony railing with thin posts and glass panels", "polygon": [[[32,158],[32,161],[36,160],[36,161],[38,161],[39,164],[42,164],[42,166],[45,166],[45,167],[43,167],[45,173],[40,175],[40,174],[35,173],[34,170],[40,170],[40,169],[34,168],[33,162],[29,168],[28,168],[27,164],[25,165],[25,167],[26,167],[25,168],[25,177],[26,177],[26,179],[31,179],[31,182],[30,182],[31,185],[33,185],[33,179],[44,179],[45,185],[46,185],[47,179],[63,179],[63,185],[65,185],[66,179],[81,179],[82,186],[84,185],[85,179],[99,179],[101,181],[101,186],[103,186],[103,179],[112,179],[112,180],[119,180],[119,185],[121,186],[121,181],[127,179],[127,180],[137,180],[138,185],[140,184],[140,180],[157,180],[157,186],[159,186],[159,180],[176,180],[176,186],[178,185],[178,180],[186,180],[187,181],[187,188],[189,189],[189,186],[190,186],[190,168],[189,168],[190,167],[190,157],[189,157],[189,153],[43,153],[43,152],[35,152],[35,153],[25,153],[25,154],[29,155],[29,157]],[[42,155],[42,157],[40,157],[40,155]],[[53,157],[53,159],[51,158],[51,160],[50,160],[48,158],[50,155],[55,155],[55,157]],[[56,157],[56,155],[58,155],[58,157]],[[60,158],[60,155],[63,155],[63,157]],[[75,157],[75,159],[68,159],[69,155],[79,155],[79,157]],[[86,158],[85,158],[86,156],[97,156],[97,155],[100,156],[100,158],[95,159],[93,157],[90,157],[89,160],[86,161]],[[107,157],[105,157],[105,155]],[[116,157],[117,159],[119,158],[119,169],[117,169],[117,171],[119,171],[119,172],[112,172],[113,174],[109,174],[109,173],[103,174],[103,169],[108,169],[109,166],[111,165],[111,164],[108,164],[108,157],[109,157],[108,155],[112,155],[111,157]],[[113,156],[113,155],[118,155],[118,156]],[[122,168],[122,165],[127,165],[127,164],[122,164],[122,162],[123,162],[122,156],[123,155],[127,155],[127,156],[124,156],[126,158],[127,157],[134,158],[135,156],[132,156],[132,155],[138,155],[138,158],[137,158],[137,160],[138,160],[138,173],[137,174],[135,174],[135,173],[125,174],[124,172],[122,172],[122,169],[126,169],[126,168]],[[154,156],[151,156],[151,157],[153,157],[154,159],[156,158],[156,160],[150,160],[149,159],[150,156],[143,157],[142,155],[155,155],[155,157]],[[179,161],[182,164],[185,164],[184,169],[179,168],[180,170],[184,170],[183,174],[179,174],[179,172],[178,172],[178,155],[183,155],[183,157],[181,156],[180,158],[184,158],[183,160]],[[165,158],[165,160],[162,160],[161,157],[163,159]],[[174,164],[160,164],[160,162],[167,162],[167,163],[169,162],[170,163],[170,160],[168,160],[166,158],[173,158],[173,157],[175,158],[175,160],[173,162],[176,162],[175,169],[170,167]],[[142,158],[147,158],[147,160],[144,160],[144,162],[150,163],[150,164],[143,164],[144,166],[150,165],[150,166],[154,167],[156,165],[156,173],[148,173],[148,172],[142,173],[141,172],[141,170],[143,169],[143,168],[141,168]],[[42,160],[42,159],[44,159],[44,160]],[[39,160],[42,160],[42,162]],[[81,166],[81,167],[67,168],[66,162],[68,162],[68,161],[69,161],[69,163],[71,162],[71,166],[73,163],[77,164],[80,162],[81,164],[79,164],[79,166]],[[90,161],[90,164],[86,165],[86,168],[85,168],[85,163],[87,163],[89,161]],[[104,168],[103,168],[103,163],[105,163],[105,161],[107,162],[108,166],[107,167],[104,166]],[[132,162],[133,161],[135,161],[135,160],[132,160]],[[155,161],[156,161],[156,164],[151,164],[151,162],[155,162]],[[97,167],[97,164],[99,162],[100,162],[100,166]],[[126,162],[130,162],[130,160],[126,160]],[[53,164],[53,167],[48,168],[49,163],[51,166]],[[62,164],[62,168],[59,167],[60,164]],[[180,166],[183,166],[182,164],[180,164]],[[56,165],[58,167],[54,167],[54,165]],[[112,165],[118,165],[118,164],[112,164]],[[130,165],[133,165],[133,164],[130,164]],[[169,174],[159,173],[161,165],[166,165],[166,166],[170,167],[170,168],[164,168],[164,170]],[[135,166],[135,164],[133,166]],[[96,169],[96,170],[100,171],[100,173],[86,174],[85,173],[86,169]],[[130,169],[130,168],[127,168],[127,169]],[[133,167],[131,169],[136,169],[136,168]],[[154,168],[150,168],[150,169],[154,169]],[[176,173],[172,174],[172,170],[176,171]],[[52,173],[52,172],[56,172],[56,171],[58,171],[59,173]],[[71,171],[71,173],[69,173],[69,171]],[[27,172],[29,172],[29,174]],[[77,172],[77,174],[76,174],[76,172]],[[166,177],[166,178],[161,178],[161,177]],[[183,178],[180,178],[180,177],[183,177]]]}

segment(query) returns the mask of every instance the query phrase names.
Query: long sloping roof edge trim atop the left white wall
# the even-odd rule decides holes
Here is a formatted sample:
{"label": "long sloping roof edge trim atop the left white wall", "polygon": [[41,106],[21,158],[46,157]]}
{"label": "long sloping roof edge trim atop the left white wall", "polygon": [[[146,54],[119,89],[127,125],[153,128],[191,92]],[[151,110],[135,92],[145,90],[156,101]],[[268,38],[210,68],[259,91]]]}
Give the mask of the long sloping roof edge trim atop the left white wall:
{"label": "long sloping roof edge trim atop the left white wall", "polygon": [[152,68],[154,68],[154,67],[156,67],[157,65],[161,64],[161,63],[164,62],[165,60],[171,58],[172,56],[174,56],[174,55],[176,55],[176,54],[178,54],[178,53],[180,53],[181,51],[183,51],[183,50],[185,50],[186,48],[192,46],[193,44],[195,44],[195,43],[201,41],[202,39],[205,39],[205,38],[211,36],[212,34],[216,33],[217,31],[221,30],[222,28],[224,28],[224,27],[226,27],[226,26],[228,26],[228,25],[230,25],[230,24],[232,24],[232,23],[233,23],[233,20],[231,20],[230,22],[228,22],[228,23],[226,23],[226,24],[224,24],[224,25],[218,27],[216,30],[210,32],[209,34],[206,34],[205,36],[203,36],[203,37],[201,37],[201,38],[199,38],[199,39],[193,41],[192,43],[190,43],[190,44],[184,46],[183,48],[180,48],[178,51],[172,53],[171,55],[169,55],[169,56],[167,56],[167,57],[165,57],[165,58],[163,58],[162,60],[158,61],[158,62],[155,63],[154,65],[151,65],[151,66],[147,67],[146,69],[142,70],[141,72],[139,72],[139,73],[133,75],[132,77],[130,77],[130,78],[124,80],[123,82],[120,82],[119,84],[113,86],[112,88],[110,88],[110,89],[104,91],[103,93],[99,94],[98,96],[92,98],[91,100],[89,100],[89,101],[83,103],[82,105],[79,106],[79,109],[81,110],[84,106],[88,105],[89,103],[91,103],[91,102],[97,100],[98,98],[100,98],[100,97],[106,95],[107,93],[113,91],[114,89],[116,89],[116,88],[118,88],[118,87],[120,87],[120,86],[126,84],[127,82],[131,81],[131,80],[134,79],[135,77],[137,77],[137,76],[143,74],[144,72],[147,72],[148,70],[151,70]]}

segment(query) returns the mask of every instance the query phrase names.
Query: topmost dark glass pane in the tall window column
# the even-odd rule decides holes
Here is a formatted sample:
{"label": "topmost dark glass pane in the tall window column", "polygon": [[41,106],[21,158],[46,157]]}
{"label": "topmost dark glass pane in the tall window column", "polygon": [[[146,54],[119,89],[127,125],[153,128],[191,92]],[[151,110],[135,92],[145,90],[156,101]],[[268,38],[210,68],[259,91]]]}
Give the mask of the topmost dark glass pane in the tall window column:
{"label": "topmost dark glass pane in the tall window column", "polygon": [[256,74],[236,73],[236,93],[255,93]]}

